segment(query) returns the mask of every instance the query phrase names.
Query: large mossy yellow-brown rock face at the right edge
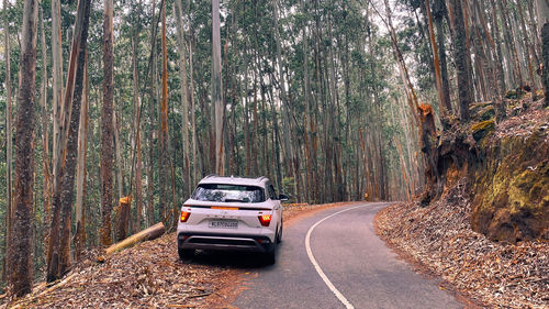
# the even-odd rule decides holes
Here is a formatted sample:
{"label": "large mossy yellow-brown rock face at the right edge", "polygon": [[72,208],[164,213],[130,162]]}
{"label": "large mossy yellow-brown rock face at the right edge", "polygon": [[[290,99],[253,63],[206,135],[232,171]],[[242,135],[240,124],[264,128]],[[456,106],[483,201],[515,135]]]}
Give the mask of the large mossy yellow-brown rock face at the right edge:
{"label": "large mossy yellow-brown rock face at the right edge", "polygon": [[[475,231],[515,243],[549,235],[549,147],[546,134],[507,136],[488,145],[488,161],[472,179]],[[480,167],[480,166],[479,166]]]}

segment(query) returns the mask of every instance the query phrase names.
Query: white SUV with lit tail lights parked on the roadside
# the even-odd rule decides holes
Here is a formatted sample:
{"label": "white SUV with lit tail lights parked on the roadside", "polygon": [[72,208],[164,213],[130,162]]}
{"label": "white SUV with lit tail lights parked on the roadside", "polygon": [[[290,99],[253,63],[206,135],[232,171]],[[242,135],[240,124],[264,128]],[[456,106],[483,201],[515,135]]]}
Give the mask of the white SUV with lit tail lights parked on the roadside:
{"label": "white SUV with lit tail lights parked on the roadside", "polygon": [[282,239],[282,206],[267,177],[210,175],[203,178],[181,208],[177,227],[181,260],[195,249],[260,252],[274,263]]}

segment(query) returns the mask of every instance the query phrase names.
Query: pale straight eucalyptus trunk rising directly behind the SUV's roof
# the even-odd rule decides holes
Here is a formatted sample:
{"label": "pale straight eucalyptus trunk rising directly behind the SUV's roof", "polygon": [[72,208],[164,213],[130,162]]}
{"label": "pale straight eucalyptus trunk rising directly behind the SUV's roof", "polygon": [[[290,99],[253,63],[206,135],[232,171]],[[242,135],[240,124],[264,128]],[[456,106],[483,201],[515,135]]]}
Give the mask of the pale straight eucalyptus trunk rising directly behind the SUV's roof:
{"label": "pale straight eucalyptus trunk rising directly behind the SUV's roof", "polygon": [[212,0],[212,108],[215,107],[215,173],[224,175],[223,119],[225,104],[222,98],[220,0]]}

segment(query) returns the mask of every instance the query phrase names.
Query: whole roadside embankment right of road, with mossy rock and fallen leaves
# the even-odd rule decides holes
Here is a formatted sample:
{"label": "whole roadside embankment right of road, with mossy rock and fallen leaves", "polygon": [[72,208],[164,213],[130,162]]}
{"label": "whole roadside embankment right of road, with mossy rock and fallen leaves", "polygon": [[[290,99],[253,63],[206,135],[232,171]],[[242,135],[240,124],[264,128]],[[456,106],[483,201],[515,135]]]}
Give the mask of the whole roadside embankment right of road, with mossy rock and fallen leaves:
{"label": "whole roadside embankment right of road, with mossy rock and fallen leaves", "polygon": [[490,307],[549,304],[549,109],[508,100],[494,120],[477,103],[437,147],[441,195],[430,205],[395,205],[378,233],[449,286]]}

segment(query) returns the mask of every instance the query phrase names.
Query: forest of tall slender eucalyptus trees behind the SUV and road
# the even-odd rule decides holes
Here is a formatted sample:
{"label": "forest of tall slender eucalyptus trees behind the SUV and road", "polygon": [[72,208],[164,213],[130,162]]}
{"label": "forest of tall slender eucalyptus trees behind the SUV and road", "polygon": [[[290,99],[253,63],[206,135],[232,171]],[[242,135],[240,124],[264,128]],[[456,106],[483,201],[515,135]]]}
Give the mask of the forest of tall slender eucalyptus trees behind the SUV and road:
{"label": "forest of tall slender eucalyptus trees behind the SUV and road", "polygon": [[15,295],[86,249],[175,229],[211,173],[266,175],[294,202],[436,190],[437,130],[549,84],[547,0],[2,4],[0,291]]}

